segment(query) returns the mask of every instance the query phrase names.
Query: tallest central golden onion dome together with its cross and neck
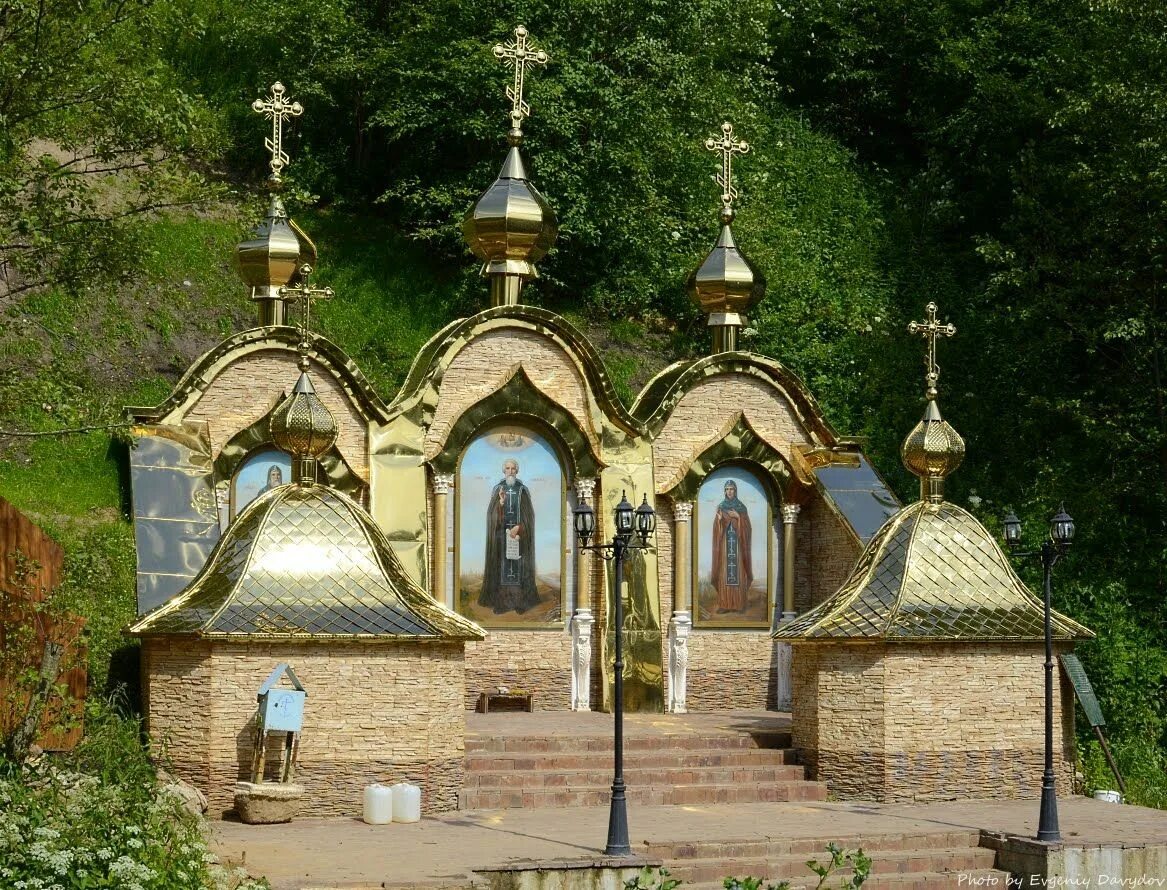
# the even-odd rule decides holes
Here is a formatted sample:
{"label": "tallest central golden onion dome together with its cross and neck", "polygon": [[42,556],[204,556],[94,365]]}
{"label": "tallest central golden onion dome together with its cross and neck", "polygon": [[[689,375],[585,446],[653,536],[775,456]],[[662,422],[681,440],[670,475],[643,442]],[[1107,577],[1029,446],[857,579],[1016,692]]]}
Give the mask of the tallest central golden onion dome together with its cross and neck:
{"label": "tallest central golden onion dome together with its cross and neck", "polygon": [[523,283],[539,276],[534,264],[551,250],[559,232],[555,211],[527,178],[520,150],[523,120],[531,114],[531,106],[523,100],[526,71],[550,61],[529,38],[526,28],[519,26],[513,41],[494,48],[495,57],[513,69],[513,83],[506,87],[511,100],[506,134],[510,149],[498,177],[462,219],[462,236],[482,260],[482,275],[490,279],[492,306],[518,303]]}

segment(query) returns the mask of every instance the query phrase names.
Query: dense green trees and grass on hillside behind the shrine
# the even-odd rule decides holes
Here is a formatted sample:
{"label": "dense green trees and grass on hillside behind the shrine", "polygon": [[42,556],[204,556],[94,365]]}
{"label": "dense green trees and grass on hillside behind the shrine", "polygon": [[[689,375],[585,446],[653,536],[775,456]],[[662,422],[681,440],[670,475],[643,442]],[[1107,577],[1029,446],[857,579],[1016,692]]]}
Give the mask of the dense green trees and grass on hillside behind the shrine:
{"label": "dense green trees and grass on hillside behind the shrine", "polygon": [[[81,8],[78,34],[123,7]],[[1065,499],[1079,537],[1056,569],[1055,604],[1098,631],[1081,651],[1132,798],[1167,805],[1167,10],[1120,0],[177,0],[132,12],[148,26],[142,38],[100,31],[85,44],[91,70],[68,82],[105,94],[112,71],[130,78],[133,94],[109,105],[104,128],[86,114],[106,106],[20,120],[0,106],[11,134],[0,231],[41,232],[51,251],[36,265],[62,282],[0,290],[0,427],[116,420],[250,315],[225,262],[253,206],[137,231],[98,213],[76,230],[92,240],[77,243],[117,251],[58,248],[43,233],[70,198],[60,175],[36,185],[47,162],[33,140],[85,148],[84,127],[98,127],[93,141],[125,140],[133,156],[183,150],[221,181],[258,182],[265,125],[249,104],[277,78],[307,107],[289,171],[295,213],[321,245],[319,280],[340,293],[321,324],[391,395],[432,331],[484,304],[457,224],[502,161],[508,75],[490,45],[519,19],[552,57],[529,80],[525,152],[561,222],[532,299],[602,327],[592,332],[626,397],[661,362],[704,351],[683,280],[715,234],[715,162],[701,141],[733,120],[754,147],[735,168],[735,231],[770,281],[746,344],[798,372],[841,432],[867,436],[910,498],[897,448],[920,411],[921,344],[903,327],[928,300],[941,304],[959,329],[941,346],[941,404],[969,443],[950,497],[990,527],[1013,507],[1033,540]],[[60,16],[56,27],[69,33]],[[27,36],[13,34],[0,22],[0,47],[19,44],[27,61]],[[48,75],[26,89],[19,65],[4,64],[0,82],[49,97],[47,107],[64,90]],[[167,101],[177,111],[163,121],[155,106]],[[175,182],[186,194],[186,175]],[[156,184],[141,181],[148,199],[173,199]],[[20,264],[21,252],[4,258]],[[95,257],[127,280],[90,280]],[[638,348],[649,338],[656,350]],[[107,642],[91,652],[107,660],[132,608],[119,447],[107,433],[0,444],[0,492],[65,539],[74,589],[92,589],[90,611],[105,616],[95,639]],[[1111,785],[1083,743],[1090,784]]]}

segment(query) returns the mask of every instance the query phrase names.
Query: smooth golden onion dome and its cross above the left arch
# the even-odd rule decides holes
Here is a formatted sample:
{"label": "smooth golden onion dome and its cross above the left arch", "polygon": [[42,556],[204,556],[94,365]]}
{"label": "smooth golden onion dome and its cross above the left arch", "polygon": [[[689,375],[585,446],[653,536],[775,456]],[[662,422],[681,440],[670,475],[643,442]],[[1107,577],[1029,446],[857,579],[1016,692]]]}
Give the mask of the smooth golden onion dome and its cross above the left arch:
{"label": "smooth golden onion dome and its cross above the left arch", "polygon": [[289,161],[284,150],[284,124],[288,118],[303,114],[303,106],[292,101],[284,84],[277,80],[272,84],[272,94],[266,99],[256,99],[251,107],[272,121],[272,135],[265,140],[272,153],[268,161],[272,173],[267,180],[272,197],[264,222],[235,248],[235,266],[243,283],[251,289],[251,299],[258,304],[259,324],[285,324],[288,301],[281,288],[301,283],[300,269],[316,265],[316,245],[288,217],[278,194],[284,182],[284,168]]}

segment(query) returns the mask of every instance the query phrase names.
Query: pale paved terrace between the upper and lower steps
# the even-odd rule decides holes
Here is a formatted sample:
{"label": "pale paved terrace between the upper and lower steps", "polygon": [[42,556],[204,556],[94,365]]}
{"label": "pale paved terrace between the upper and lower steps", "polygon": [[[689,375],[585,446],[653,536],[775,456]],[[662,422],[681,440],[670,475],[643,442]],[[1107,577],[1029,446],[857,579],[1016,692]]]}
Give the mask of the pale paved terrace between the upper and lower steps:
{"label": "pale paved terrace between the upper and lower steps", "polygon": [[[1167,813],[1061,801],[1062,836],[1071,845],[1167,843]],[[629,807],[634,852],[643,841],[874,836],[951,828],[1033,835],[1037,801],[882,804],[746,804]],[[215,847],[232,864],[266,875],[274,890],[464,883],[475,868],[512,861],[594,857],[607,836],[605,807],[452,813],[415,825],[300,819],[288,825],[215,824]]]}

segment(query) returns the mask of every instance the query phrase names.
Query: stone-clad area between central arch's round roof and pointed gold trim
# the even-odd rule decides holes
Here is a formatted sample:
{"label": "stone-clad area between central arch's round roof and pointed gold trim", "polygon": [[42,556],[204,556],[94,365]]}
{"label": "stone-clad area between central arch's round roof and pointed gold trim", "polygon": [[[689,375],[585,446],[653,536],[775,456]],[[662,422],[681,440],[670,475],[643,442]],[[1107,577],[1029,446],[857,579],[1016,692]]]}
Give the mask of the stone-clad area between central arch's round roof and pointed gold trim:
{"label": "stone-clad area between central arch's round roof and pointed gold trim", "polygon": [[575,418],[593,443],[599,441],[584,376],[562,348],[533,331],[496,330],[470,341],[446,370],[441,398],[426,430],[427,458],[441,450],[462,413],[502,386],[509,369],[518,363],[540,392]]}

